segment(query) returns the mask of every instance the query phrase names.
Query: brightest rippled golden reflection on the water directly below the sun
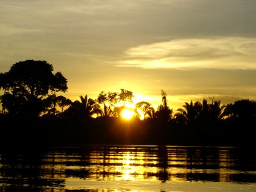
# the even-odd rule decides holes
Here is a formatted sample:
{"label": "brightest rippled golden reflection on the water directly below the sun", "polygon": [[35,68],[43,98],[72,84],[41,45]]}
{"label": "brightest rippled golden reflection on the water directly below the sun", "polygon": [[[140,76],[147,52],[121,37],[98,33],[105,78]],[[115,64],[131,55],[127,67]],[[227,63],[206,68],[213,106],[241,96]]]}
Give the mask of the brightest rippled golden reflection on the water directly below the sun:
{"label": "brightest rippled golden reflection on the water directly below the sun", "polygon": [[157,180],[157,156],[145,152],[90,154],[90,175],[98,180]]}

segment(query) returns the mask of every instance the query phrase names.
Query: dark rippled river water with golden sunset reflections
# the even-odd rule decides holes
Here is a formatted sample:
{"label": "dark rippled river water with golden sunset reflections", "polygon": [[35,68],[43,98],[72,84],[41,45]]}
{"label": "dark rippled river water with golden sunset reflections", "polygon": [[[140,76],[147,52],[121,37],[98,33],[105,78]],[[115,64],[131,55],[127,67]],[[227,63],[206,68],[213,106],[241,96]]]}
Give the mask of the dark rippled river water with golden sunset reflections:
{"label": "dark rippled river water with golden sunset reflections", "polygon": [[0,191],[256,191],[252,148],[52,147],[0,152]]}

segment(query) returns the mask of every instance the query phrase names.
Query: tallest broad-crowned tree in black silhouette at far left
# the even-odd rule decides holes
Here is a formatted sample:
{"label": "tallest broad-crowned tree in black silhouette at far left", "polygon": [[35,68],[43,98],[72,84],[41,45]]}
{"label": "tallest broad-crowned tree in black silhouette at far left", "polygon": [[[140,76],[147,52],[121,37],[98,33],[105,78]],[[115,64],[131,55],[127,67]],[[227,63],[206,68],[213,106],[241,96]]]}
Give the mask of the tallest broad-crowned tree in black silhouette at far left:
{"label": "tallest broad-crowned tree in black silhouette at far left", "polygon": [[26,60],[0,74],[1,102],[13,116],[38,116],[44,110],[43,99],[49,92],[66,92],[67,79],[61,72],[53,74],[47,61]]}

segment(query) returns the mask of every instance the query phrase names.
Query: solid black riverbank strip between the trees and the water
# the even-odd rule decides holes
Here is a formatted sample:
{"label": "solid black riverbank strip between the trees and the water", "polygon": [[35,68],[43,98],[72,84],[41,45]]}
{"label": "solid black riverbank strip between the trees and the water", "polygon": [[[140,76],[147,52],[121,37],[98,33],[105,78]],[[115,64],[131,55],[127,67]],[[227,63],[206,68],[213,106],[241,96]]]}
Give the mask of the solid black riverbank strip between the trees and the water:
{"label": "solid black riverbank strip between the trees and the water", "polygon": [[215,125],[178,125],[157,119],[121,118],[84,120],[38,118],[1,119],[4,146],[52,145],[180,145],[256,147],[253,122],[223,121]]}

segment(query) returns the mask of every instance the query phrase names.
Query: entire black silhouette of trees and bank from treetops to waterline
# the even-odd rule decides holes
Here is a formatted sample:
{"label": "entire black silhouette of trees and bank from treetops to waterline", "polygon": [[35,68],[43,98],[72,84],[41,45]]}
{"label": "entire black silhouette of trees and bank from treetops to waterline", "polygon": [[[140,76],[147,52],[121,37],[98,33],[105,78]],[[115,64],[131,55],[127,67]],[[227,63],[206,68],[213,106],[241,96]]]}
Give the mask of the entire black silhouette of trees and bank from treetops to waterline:
{"label": "entire black silhouette of trees and bank from treetops to waterline", "polygon": [[[256,102],[242,99],[221,105],[209,98],[185,102],[183,108],[168,106],[167,93],[161,90],[157,110],[147,101],[135,104],[129,121],[122,111],[132,102],[133,93],[100,92],[97,99],[88,95],[72,102],[58,92],[67,91],[67,79],[52,73],[47,61],[15,63],[0,74],[2,113],[1,144],[154,144],[221,145],[255,147]],[[95,118],[93,118],[95,117]]]}

